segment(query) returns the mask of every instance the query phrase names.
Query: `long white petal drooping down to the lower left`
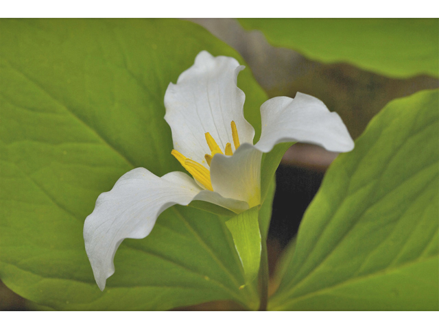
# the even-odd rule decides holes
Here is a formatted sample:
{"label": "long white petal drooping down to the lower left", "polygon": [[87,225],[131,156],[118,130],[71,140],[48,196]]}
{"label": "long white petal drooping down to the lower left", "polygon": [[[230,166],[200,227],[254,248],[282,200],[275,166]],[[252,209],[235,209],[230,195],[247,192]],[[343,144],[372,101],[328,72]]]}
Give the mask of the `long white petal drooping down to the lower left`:
{"label": "long white petal drooping down to the lower left", "polygon": [[99,195],[95,210],[84,223],[86,252],[99,289],[115,272],[113,258],[123,239],[150,234],[158,215],[174,204],[189,204],[201,191],[185,173],[162,178],[137,168],[117,180],[111,191]]}

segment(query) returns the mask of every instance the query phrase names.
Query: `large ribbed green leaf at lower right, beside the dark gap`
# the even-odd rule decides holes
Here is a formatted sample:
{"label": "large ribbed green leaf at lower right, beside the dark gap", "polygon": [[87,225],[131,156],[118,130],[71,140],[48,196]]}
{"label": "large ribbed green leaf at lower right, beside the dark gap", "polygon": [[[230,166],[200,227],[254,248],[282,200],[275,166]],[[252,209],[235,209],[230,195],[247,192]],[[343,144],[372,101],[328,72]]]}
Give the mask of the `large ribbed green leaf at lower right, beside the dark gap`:
{"label": "large ribbed green leaf at lower right, beside the dark gap", "polygon": [[331,164],[272,310],[438,310],[438,90],[396,99]]}

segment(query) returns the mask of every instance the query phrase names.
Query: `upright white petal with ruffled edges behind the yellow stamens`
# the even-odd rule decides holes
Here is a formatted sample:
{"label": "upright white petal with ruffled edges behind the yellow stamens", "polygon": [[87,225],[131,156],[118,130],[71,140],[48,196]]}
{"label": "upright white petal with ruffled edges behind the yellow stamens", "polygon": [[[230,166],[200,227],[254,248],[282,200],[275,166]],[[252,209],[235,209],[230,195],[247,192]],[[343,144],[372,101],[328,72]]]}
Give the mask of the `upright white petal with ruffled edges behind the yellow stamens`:
{"label": "upright white petal with ruffled edges behind the yellow stamens", "polygon": [[237,87],[237,75],[244,66],[235,58],[213,57],[201,51],[195,64],[169,84],[165,94],[165,120],[172,130],[174,149],[204,164],[211,151],[204,134],[209,132],[224,151],[232,143],[231,121],[235,121],[239,140],[253,143],[254,129],[244,119],[244,92]]}

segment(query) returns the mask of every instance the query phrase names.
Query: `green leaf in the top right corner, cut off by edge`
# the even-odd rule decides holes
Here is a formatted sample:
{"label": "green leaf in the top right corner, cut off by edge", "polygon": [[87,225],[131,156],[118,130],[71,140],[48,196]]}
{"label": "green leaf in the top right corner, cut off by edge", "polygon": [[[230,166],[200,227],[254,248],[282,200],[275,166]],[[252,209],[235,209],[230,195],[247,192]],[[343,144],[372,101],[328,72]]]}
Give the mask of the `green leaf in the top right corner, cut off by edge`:
{"label": "green leaf in the top right corner, cut off by edge", "polygon": [[277,47],[390,77],[438,77],[439,19],[239,19]]}

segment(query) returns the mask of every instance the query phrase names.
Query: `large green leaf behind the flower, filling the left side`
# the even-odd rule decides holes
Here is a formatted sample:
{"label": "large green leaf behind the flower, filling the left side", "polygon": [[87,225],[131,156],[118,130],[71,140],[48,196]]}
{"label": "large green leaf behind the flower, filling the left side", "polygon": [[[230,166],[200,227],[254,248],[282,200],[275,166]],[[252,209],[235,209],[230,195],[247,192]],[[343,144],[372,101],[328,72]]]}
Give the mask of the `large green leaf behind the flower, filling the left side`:
{"label": "large green leaf behind the flower, filling the left side", "polygon": [[[180,206],[165,211],[146,239],[124,241],[103,293],[82,239],[97,196],[123,173],[182,170],[163,119],[169,82],[199,51],[244,64],[238,53],[186,21],[1,20],[0,33],[1,280],[33,302],[64,310],[167,309],[209,300],[256,308],[256,288],[239,290],[244,271],[219,215]],[[238,84],[258,136],[265,94],[248,69]]]}

